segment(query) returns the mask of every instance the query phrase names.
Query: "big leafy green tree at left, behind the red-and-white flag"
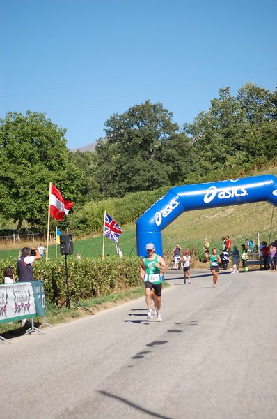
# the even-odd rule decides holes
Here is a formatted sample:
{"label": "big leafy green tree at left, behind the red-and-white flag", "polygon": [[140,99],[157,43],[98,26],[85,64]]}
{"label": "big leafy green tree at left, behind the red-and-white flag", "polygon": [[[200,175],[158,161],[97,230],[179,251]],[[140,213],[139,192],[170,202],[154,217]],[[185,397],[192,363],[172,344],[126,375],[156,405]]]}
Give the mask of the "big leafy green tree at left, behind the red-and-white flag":
{"label": "big leafy green tree at left, behind the red-and-white flag", "polygon": [[45,114],[8,112],[0,119],[0,213],[17,223],[47,226],[49,182],[77,200],[83,174],[70,160],[65,130]]}

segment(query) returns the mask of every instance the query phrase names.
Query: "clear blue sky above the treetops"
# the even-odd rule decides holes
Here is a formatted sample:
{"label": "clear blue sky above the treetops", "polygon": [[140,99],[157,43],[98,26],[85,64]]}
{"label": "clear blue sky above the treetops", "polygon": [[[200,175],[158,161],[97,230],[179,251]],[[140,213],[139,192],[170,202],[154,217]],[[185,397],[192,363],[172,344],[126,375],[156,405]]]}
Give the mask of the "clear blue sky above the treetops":
{"label": "clear blue sky above the treetops", "polygon": [[70,149],[149,99],[192,122],[221,87],[275,90],[276,0],[0,0],[0,117],[46,112]]}

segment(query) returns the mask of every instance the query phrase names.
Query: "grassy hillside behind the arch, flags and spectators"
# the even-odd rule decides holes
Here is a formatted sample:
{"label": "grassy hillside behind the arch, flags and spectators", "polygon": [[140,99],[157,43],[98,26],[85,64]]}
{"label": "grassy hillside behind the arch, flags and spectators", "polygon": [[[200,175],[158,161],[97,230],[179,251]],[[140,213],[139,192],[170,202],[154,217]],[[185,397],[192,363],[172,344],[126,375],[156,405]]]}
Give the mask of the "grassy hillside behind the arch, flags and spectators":
{"label": "grassy hillside behind the arch, flags and spectators", "polygon": [[[277,176],[277,166],[251,175],[264,174]],[[125,256],[135,255],[136,225],[129,223],[121,227],[123,233],[120,236],[119,247]],[[195,249],[200,256],[204,256],[204,237],[209,238],[210,246],[220,249],[222,235],[229,235],[232,244],[240,246],[246,238],[252,239],[257,244],[257,233],[260,234],[260,241],[270,242],[277,238],[277,208],[269,203],[260,202],[184,212],[163,231],[164,254],[171,258],[173,247],[177,243],[182,249]],[[81,253],[83,258],[96,258],[102,255],[102,244],[102,235],[74,240],[74,254]],[[114,242],[106,238],[104,245],[105,255],[116,254]],[[1,258],[10,255],[18,255],[18,245],[17,249],[0,251]],[[49,257],[55,257],[55,246],[49,249]]]}

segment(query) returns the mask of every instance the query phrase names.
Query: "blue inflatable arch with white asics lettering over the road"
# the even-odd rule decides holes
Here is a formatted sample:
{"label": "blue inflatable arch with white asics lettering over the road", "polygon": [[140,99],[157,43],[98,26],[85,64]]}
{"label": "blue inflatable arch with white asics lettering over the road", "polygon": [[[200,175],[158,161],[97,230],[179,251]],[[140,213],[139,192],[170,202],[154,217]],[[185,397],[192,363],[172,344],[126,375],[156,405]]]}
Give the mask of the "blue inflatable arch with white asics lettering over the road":
{"label": "blue inflatable arch with white asics lettering over the road", "polygon": [[162,255],[161,231],[184,211],[258,201],[277,206],[277,178],[274,175],[176,186],[136,221],[137,254],[144,257],[145,245],[152,242],[155,252]]}

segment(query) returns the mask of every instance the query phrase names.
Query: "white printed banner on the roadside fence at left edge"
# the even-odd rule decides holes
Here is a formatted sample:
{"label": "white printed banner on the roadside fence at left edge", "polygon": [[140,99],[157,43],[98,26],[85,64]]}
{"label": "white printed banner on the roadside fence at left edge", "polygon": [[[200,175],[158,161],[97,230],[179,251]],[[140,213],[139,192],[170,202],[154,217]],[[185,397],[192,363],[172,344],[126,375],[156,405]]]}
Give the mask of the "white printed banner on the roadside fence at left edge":
{"label": "white printed banner on the roadside fence at left edge", "polygon": [[0,285],[0,324],[36,316],[31,282]]}

